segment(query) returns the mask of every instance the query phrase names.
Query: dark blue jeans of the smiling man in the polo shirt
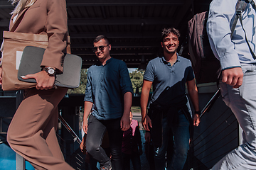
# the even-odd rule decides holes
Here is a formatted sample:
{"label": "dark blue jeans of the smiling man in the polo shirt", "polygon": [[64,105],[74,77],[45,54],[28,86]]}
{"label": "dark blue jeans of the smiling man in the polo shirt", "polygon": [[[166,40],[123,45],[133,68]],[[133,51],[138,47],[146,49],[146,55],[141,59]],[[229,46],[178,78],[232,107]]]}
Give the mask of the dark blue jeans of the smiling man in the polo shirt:
{"label": "dark blue jeans of the smiling man in the polo shirt", "polygon": [[[167,170],[181,170],[186,162],[189,149],[189,122],[182,111],[178,111],[178,119],[171,125],[167,117],[162,120],[163,143],[154,148],[154,161],[157,170],[165,169],[165,154],[167,152]],[[173,141],[169,141],[173,140]],[[170,146],[172,145],[173,146]],[[171,153],[169,153],[171,152]]]}

